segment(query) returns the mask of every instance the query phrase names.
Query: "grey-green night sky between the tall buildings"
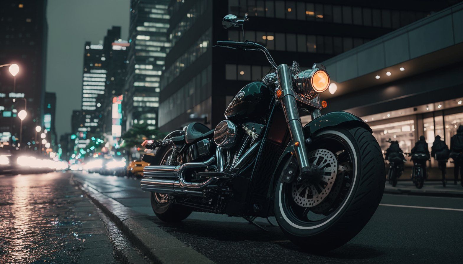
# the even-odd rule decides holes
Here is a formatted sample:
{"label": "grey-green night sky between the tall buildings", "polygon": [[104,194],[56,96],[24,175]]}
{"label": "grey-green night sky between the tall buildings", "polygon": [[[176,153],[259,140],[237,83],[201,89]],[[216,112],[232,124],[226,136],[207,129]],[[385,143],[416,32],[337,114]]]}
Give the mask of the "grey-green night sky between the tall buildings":
{"label": "grey-green night sky between the tall buildings", "polygon": [[81,108],[85,41],[98,44],[113,25],[127,40],[130,0],[48,0],[46,91],[56,92],[56,130],[71,132],[72,110]]}

